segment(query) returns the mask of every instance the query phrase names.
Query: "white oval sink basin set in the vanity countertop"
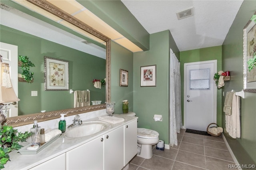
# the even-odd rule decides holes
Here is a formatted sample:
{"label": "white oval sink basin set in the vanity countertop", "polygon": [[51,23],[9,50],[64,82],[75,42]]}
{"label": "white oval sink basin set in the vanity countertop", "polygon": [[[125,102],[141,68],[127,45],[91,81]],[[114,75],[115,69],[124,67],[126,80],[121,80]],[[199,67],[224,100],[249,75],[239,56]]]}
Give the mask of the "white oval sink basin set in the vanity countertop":
{"label": "white oval sink basin set in the vanity countertop", "polygon": [[93,121],[93,122],[86,122],[80,125],[79,127],[71,128],[67,130],[65,133],[66,137],[69,138],[79,138],[83,136],[88,136],[91,134],[95,134],[104,130],[107,127],[106,123]]}

